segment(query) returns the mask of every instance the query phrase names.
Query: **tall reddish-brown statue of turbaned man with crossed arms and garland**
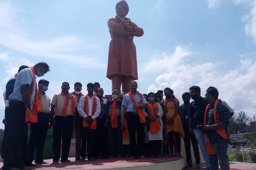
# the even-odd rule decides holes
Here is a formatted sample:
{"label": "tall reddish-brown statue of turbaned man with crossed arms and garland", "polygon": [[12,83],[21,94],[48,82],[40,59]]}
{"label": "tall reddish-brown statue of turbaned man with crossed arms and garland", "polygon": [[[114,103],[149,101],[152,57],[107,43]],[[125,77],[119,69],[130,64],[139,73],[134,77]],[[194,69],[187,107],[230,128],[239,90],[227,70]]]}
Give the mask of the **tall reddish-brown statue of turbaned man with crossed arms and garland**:
{"label": "tall reddish-brown statue of turbaned man with crossed arms and garland", "polygon": [[109,61],[106,77],[112,81],[112,90],[130,91],[130,82],[138,80],[136,47],[133,37],[144,34],[128,14],[129,6],[126,1],[121,0],[116,4],[116,17],[108,21],[111,41],[109,45]]}

